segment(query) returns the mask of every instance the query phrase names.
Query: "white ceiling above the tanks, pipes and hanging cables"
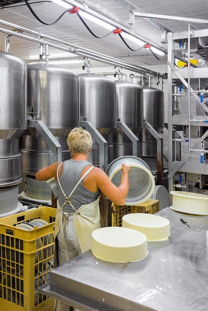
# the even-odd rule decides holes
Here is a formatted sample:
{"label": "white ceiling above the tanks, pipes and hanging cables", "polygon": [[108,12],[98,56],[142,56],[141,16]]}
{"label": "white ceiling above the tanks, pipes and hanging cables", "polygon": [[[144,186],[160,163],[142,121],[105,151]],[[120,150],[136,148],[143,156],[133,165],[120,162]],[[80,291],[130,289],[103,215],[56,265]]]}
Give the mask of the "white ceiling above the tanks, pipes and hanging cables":
{"label": "white ceiling above the tanks, pipes and hanging cables", "polygon": [[[149,49],[140,49],[139,51],[131,51],[121,40],[117,34],[109,34],[103,39],[94,37],[86,26],[79,19],[77,14],[69,14],[68,12],[63,15],[58,22],[53,25],[44,25],[38,21],[35,16],[30,12],[29,8],[24,1],[18,1],[19,3],[13,4],[14,1],[0,0],[0,50],[5,50],[5,36],[2,29],[13,30],[15,27],[13,24],[31,29],[41,34],[55,37],[59,40],[64,40],[69,43],[69,46],[58,43],[60,46],[64,46],[70,49],[70,44],[102,53],[111,58],[116,58],[121,62],[125,62],[131,65],[139,67],[146,67],[147,65],[162,65],[167,64],[167,58],[159,56],[159,60],[149,51]],[[208,4],[206,0],[68,0],[73,5],[83,7],[83,3],[87,5],[87,10],[96,11],[106,19],[110,19],[115,25],[118,25],[122,29],[130,29],[130,10],[143,11],[145,13],[153,13],[158,15],[171,15],[181,16],[185,18],[195,19],[208,19]],[[45,23],[54,22],[66,9],[52,1],[37,1],[29,0],[32,3],[31,7],[35,14]],[[6,26],[2,21],[12,23],[10,26]],[[109,31],[97,24],[85,20],[87,25],[97,36],[104,36]],[[208,24],[191,22],[196,29],[207,29]],[[138,37],[146,38],[147,42],[151,42],[155,46],[159,46],[167,51],[167,43],[161,42],[161,34],[163,29],[168,31],[188,31],[188,21],[181,20],[167,20],[167,19],[151,19],[135,16],[134,23],[132,24],[132,30]],[[18,27],[16,27],[18,28]],[[29,34],[23,31],[22,34],[29,35],[30,37],[37,38],[36,35]],[[122,33],[121,33],[122,34]],[[53,42],[49,39],[45,39],[47,42]],[[126,43],[132,50],[136,50],[139,47],[131,41]],[[53,58],[54,53],[63,53],[53,47],[48,47],[48,52],[51,54],[49,59]],[[23,38],[12,36],[10,38],[10,53],[16,55],[25,61],[38,59],[40,54],[40,47],[37,42],[32,42]],[[71,54],[61,55],[60,58],[67,56],[71,58]],[[74,55],[76,58],[81,58],[79,55]],[[57,56],[56,56],[57,58]],[[95,63],[96,64],[96,63]],[[101,66],[103,64],[99,63]],[[82,65],[81,65],[82,66]],[[104,64],[106,66],[106,64]]]}

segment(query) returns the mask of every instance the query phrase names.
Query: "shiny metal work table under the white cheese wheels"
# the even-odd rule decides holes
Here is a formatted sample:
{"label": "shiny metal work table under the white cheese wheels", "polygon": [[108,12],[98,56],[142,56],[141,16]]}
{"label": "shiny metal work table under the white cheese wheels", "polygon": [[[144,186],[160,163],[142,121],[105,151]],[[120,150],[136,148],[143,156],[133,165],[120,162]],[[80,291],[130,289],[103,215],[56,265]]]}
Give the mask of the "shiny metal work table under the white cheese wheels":
{"label": "shiny metal work table under the white cheese wheels", "polygon": [[171,236],[148,242],[143,260],[111,263],[88,251],[54,269],[50,284],[40,291],[80,310],[207,310],[208,216],[169,207],[157,215],[170,220]]}

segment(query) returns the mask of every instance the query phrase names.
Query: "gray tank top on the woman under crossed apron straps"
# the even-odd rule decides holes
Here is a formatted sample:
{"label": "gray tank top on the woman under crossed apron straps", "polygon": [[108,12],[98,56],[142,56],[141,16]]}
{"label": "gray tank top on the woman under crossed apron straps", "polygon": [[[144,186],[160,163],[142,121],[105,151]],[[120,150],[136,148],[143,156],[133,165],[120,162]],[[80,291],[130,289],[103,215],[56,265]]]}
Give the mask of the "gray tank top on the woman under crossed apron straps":
{"label": "gray tank top on the woman under crossed apron straps", "polygon": [[[73,188],[76,186],[77,182],[80,180],[83,169],[89,164],[92,164],[92,163],[88,161],[76,161],[73,159],[64,161],[64,164],[62,164],[64,168],[63,168],[62,175],[59,177],[59,181],[67,196],[71,193]],[[100,195],[100,190],[98,190],[95,193],[85,188],[82,184],[84,179],[79,184],[79,186],[77,187],[75,192],[72,194],[71,199],[70,199],[70,201],[72,202],[73,206],[76,209],[80,208],[80,206],[83,204],[88,204],[88,203],[95,201]],[[65,197],[59,187],[58,181],[56,182],[56,188],[57,188],[57,193],[58,193],[57,198],[59,200],[60,206],[62,206],[62,204],[65,202]],[[72,209],[69,203],[67,203],[64,206],[63,211],[74,213],[74,210]]]}

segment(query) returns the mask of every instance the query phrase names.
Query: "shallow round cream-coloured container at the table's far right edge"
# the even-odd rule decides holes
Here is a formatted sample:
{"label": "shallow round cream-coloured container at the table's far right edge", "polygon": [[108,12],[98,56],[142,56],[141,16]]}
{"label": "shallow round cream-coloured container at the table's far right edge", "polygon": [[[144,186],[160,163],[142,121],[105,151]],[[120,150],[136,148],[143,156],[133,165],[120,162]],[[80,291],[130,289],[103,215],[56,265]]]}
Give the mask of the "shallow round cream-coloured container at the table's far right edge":
{"label": "shallow round cream-coloured container at the table's far right edge", "polygon": [[173,195],[173,205],[170,206],[172,210],[187,214],[208,215],[208,195],[185,191],[170,193]]}

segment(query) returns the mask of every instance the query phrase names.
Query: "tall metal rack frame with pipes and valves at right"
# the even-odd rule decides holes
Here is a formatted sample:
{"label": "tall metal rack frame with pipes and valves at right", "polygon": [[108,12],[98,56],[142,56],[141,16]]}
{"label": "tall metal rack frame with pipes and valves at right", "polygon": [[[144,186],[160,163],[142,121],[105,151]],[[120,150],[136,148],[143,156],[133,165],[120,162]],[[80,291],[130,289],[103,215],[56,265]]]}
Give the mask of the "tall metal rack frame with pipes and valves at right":
{"label": "tall metal rack frame with pipes and valves at right", "polygon": [[[200,81],[202,79],[208,78],[208,68],[205,67],[196,67],[192,66],[190,63],[190,42],[192,38],[199,38],[199,42],[205,42],[205,37],[208,36],[208,29],[203,30],[195,30],[191,24],[189,24],[189,28],[187,32],[177,32],[177,33],[168,33],[168,147],[169,147],[169,192],[171,190],[175,190],[175,174],[176,172],[188,172],[188,173],[197,173],[208,175],[208,164],[204,161],[199,163],[189,162],[188,158],[190,155],[195,152],[199,152],[200,156],[205,155],[208,151],[205,149],[200,149],[201,144],[208,136],[208,129],[205,128],[205,132],[203,135],[200,135],[197,143],[195,143],[194,147],[191,148],[191,127],[201,126],[208,127],[208,107],[204,103],[204,94],[206,90],[194,90],[190,86],[190,81],[192,79],[197,79]],[[175,48],[175,43],[180,42],[180,40],[186,40],[187,42],[187,67],[183,69],[175,68],[175,57],[176,50],[180,50]],[[181,48],[183,50],[183,48]],[[178,79],[180,83],[182,83],[188,91],[188,109],[187,115],[176,115],[174,114],[174,100],[173,100],[173,80]],[[201,92],[201,96],[199,96],[199,92]],[[200,105],[205,110],[205,115],[191,115],[190,112],[190,97],[194,96],[195,99],[200,103]],[[187,144],[189,145],[188,153],[180,158],[180,143],[176,143],[175,130],[174,126],[188,126],[189,131],[189,140]],[[199,133],[201,131],[199,130]],[[198,149],[199,148],[199,149]],[[193,165],[194,164],[194,165]],[[170,195],[170,205],[171,205],[172,197]]]}

